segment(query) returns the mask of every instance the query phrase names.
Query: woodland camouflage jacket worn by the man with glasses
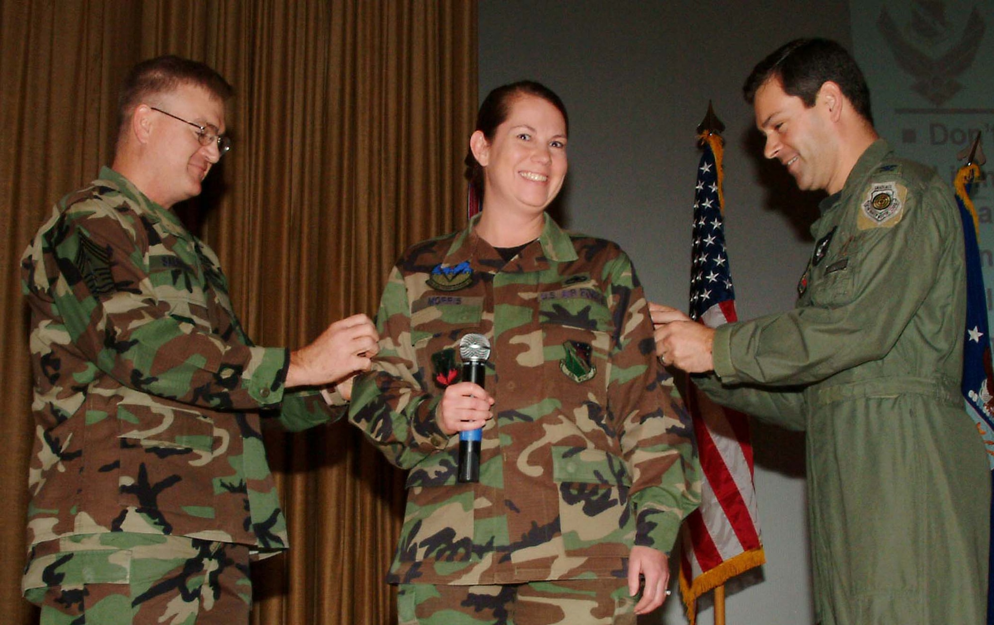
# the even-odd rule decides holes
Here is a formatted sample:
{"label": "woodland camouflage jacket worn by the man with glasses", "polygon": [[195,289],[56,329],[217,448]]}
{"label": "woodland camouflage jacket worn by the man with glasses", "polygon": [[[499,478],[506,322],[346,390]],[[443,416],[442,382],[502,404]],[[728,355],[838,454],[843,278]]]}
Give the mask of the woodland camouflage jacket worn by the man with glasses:
{"label": "woodland camouflage jacket worn by the man with glasses", "polygon": [[26,585],[71,535],[285,548],[260,416],[299,430],[334,411],[284,393],[287,351],[248,339],[214,252],[103,168],[56,206],[21,271],[36,421]]}

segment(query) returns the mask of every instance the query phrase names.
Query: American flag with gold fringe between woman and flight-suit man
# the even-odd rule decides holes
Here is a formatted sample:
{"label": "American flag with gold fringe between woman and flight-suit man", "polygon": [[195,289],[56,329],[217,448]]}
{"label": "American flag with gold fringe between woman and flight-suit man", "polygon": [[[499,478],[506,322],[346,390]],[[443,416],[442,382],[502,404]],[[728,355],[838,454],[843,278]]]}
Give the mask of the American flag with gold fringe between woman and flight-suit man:
{"label": "American flag with gold fringe between woman and flight-suit man", "polygon": [[[722,138],[700,137],[690,285],[690,315],[711,327],[737,320],[735,289],[725,248],[722,206]],[[723,408],[688,382],[704,473],[701,507],[684,523],[680,587],[690,622],[697,599],[728,579],[766,561],[756,518],[748,419]]]}

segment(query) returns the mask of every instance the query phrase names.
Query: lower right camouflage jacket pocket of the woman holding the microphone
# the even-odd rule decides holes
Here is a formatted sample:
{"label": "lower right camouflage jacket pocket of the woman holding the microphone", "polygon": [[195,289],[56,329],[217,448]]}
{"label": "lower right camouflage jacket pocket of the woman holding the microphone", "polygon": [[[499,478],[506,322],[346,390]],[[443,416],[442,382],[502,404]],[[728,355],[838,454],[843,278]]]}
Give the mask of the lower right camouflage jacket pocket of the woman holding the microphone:
{"label": "lower right camouflage jacket pocket of the woman holding the microphone", "polygon": [[635,522],[631,479],[620,458],[597,449],[553,447],[560,524],[567,552],[627,555]]}

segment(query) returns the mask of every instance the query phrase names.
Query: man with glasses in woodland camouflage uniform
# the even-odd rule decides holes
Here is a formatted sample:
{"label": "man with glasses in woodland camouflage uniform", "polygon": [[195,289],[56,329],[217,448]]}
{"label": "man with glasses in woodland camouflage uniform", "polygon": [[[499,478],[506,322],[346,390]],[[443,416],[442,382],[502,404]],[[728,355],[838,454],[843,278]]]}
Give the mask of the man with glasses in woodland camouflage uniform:
{"label": "man with glasses in woodland camouflage uniform", "polygon": [[37,424],[23,590],[43,624],[247,623],[249,559],[287,546],[260,417],[340,416],[313,389],[376,350],[365,315],[293,352],[254,346],[217,256],[171,210],[228,150],[231,92],[200,63],[136,66],[111,168],[22,260]]}

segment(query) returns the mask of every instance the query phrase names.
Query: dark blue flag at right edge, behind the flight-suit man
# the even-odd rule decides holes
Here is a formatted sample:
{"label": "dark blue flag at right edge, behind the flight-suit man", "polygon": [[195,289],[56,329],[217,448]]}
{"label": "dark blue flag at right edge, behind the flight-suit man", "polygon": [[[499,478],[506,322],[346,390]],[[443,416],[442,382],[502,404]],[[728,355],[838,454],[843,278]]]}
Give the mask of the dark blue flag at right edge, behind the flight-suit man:
{"label": "dark blue flag at right edge, behind the flight-suit man", "polygon": [[[966,250],[966,334],[963,336],[963,381],[960,390],[966,400],[966,412],[976,422],[987,446],[987,459],[994,479],[994,370],[991,366],[986,290],[977,242],[977,213],[970,200],[970,187],[979,174],[980,167],[976,163],[967,163],[960,167],[953,185],[963,222]],[[994,501],[991,502],[991,520],[994,521]],[[994,537],[994,526],[991,531]],[[991,542],[991,549],[989,557],[994,565],[994,542]],[[987,623],[994,625],[994,585],[990,583],[987,587]]]}

